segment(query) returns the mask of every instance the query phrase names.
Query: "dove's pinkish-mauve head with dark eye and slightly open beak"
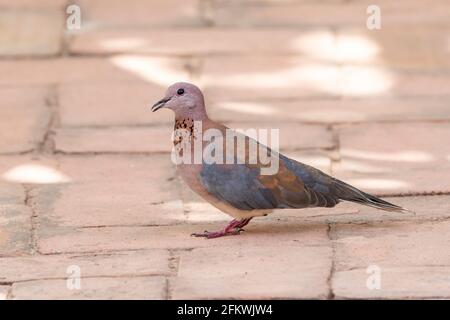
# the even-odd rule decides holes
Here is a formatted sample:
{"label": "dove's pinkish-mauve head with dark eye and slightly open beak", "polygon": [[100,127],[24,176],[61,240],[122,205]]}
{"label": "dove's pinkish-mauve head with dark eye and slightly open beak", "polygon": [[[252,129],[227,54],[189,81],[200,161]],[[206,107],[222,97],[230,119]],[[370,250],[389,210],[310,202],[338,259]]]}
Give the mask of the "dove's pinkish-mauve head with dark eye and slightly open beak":
{"label": "dove's pinkish-mauve head with dark eye and slightly open beak", "polygon": [[177,118],[200,120],[206,117],[205,102],[200,89],[187,82],[171,85],[164,98],[155,103],[152,111],[168,108],[175,112]]}

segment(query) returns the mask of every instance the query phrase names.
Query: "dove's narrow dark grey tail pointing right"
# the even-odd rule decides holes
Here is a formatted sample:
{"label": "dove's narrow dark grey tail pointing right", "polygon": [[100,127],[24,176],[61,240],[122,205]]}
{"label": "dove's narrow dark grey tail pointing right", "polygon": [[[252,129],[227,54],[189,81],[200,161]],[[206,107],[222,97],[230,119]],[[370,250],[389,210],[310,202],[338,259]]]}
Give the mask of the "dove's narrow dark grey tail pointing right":
{"label": "dove's narrow dark grey tail pointing right", "polygon": [[414,213],[411,210],[402,208],[400,206],[397,206],[395,204],[392,204],[390,202],[387,202],[383,199],[380,199],[378,197],[375,197],[371,194],[365,193],[364,191],[358,190],[355,187],[352,187],[351,185],[334,179],[334,187],[337,191],[337,195],[339,199],[356,202],[359,204],[363,204],[369,207],[373,207],[380,210],[385,211],[393,211],[393,212],[410,212]]}

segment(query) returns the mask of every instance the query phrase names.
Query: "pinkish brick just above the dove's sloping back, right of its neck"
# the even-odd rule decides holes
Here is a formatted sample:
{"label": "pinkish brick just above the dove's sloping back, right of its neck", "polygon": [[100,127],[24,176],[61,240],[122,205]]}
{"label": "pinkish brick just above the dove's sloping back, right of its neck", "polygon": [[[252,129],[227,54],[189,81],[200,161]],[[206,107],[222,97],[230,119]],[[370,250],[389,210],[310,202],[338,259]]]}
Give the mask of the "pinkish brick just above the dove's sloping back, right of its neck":
{"label": "pinkish brick just above the dove's sloping back, right of its neck", "polygon": [[[232,129],[278,129],[280,150],[329,149],[334,146],[331,131],[326,126],[282,122],[231,122]],[[262,135],[263,133],[261,133]],[[269,131],[267,133],[270,135]],[[301,137],[299,139],[298,137]],[[260,140],[260,136],[258,136]]]}

